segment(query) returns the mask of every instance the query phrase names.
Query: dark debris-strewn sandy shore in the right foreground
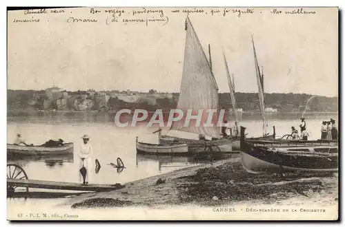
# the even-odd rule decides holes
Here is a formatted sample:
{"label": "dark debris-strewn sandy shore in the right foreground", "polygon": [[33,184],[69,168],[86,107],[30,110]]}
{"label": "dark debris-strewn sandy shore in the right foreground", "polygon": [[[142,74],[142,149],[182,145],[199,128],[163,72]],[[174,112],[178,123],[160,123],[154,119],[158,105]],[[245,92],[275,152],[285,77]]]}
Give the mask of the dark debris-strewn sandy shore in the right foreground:
{"label": "dark debris-strewn sandy shore in the right foreground", "polygon": [[126,184],[125,188],[71,197],[63,206],[108,208],[166,205],[315,204],[336,206],[337,174],[253,174],[239,158],[201,164]]}

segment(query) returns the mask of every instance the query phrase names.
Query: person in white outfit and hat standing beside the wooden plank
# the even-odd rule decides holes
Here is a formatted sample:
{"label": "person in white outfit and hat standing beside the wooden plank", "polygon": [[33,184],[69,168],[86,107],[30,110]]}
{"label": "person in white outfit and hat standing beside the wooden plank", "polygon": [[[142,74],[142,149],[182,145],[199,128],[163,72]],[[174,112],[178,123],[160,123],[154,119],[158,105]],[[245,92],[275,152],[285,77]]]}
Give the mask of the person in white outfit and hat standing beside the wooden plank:
{"label": "person in white outfit and hat standing beside the wooden plank", "polygon": [[[80,146],[80,151],[79,151],[79,160],[80,160],[80,165],[79,165],[79,169],[81,169],[81,167],[85,167],[86,168],[86,184],[88,184],[88,182],[90,182],[90,180],[92,180],[92,162],[91,162],[91,154],[92,154],[92,147],[91,145],[88,143],[88,140],[90,140],[90,136],[88,135],[84,135],[82,137],[83,139],[83,144],[81,144]],[[80,176],[80,181],[83,182],[83,176],[81,175],[81,173],[79,172],[79,176]]]}

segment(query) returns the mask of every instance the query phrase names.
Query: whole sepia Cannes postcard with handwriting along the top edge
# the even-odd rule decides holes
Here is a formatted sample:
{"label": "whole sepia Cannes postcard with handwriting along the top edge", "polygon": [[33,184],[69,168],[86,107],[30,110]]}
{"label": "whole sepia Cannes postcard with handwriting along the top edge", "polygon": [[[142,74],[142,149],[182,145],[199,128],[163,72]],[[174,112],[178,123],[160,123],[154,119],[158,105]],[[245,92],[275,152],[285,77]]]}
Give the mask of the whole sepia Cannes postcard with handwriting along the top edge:
{"label": "whole sepia Cannes postcard with handwriting along the top edge", "polygon": [[338,18],[8,9],[8,219],[337,220]]}

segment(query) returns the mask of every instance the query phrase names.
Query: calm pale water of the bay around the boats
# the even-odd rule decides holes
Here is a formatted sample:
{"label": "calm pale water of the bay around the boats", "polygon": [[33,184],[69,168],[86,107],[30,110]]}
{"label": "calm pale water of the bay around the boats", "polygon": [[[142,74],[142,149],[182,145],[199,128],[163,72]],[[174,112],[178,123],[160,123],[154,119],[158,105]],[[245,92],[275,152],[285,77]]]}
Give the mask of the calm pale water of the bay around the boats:
{"label": "calm pale water of the bay around the boats", "polygon": [[[268,132],[272,133],[275,125],[277,136],[290,134],[292,126],[299,129],[300,114],[271,114],[268,115]],[[307,131],[310,139],[318,139],[321,135],[322,120],[333,118],[337,114],[305,114]],[[240,125],[246,127],[248,137],[262,136],[262,120],[259,115],[242,115]],[[78,116],[36,116],[8,118],[8,143],[12,143],[18,132],[28,143],[43,144],[50,138],[62,138],[65,142],[74,142],[73,155],[50,158],[8,159],[8,163],[18,164],[32,180],[52,180],[61,182],[79,182],[79,162],[77,152],[82,142],[81,136],[88,134],[93,148],[92,160],[97,158],[101,164],[98,174],[95,174],[92,183],[124,184],[144,177],[160,173],[167,173],[186,166],[198,164],[193,158],[169,157],[157,155],[137,155],[135,138],[151,143],[157,143],[157,134],[152,134],[156,128],[139,127],[119,128],[114,125],[109,116],[96,116],[84,113]],[[117,173],[117,169],[108,165],[116,163],[117,158],[123,160],[126,169]],[[233,156],[235,157],[235,156]],[[30,191],[43,191],[32,189]],[[61,199],[21,199],[9,198],[11,207],[25,204],[59,204]]]}

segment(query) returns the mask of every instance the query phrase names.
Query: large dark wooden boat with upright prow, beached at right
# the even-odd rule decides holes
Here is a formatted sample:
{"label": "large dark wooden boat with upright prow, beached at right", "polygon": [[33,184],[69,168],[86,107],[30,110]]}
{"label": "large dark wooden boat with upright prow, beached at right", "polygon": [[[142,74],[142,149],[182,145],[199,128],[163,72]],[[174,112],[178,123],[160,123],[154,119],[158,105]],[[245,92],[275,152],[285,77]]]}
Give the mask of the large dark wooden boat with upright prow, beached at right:
{"label": "large dark wooden boat with upright prow, beached at right", "polygon": [[338,145],[329,141],[254,141],[241,127],[241,162],[248,172],[337,172]]}

